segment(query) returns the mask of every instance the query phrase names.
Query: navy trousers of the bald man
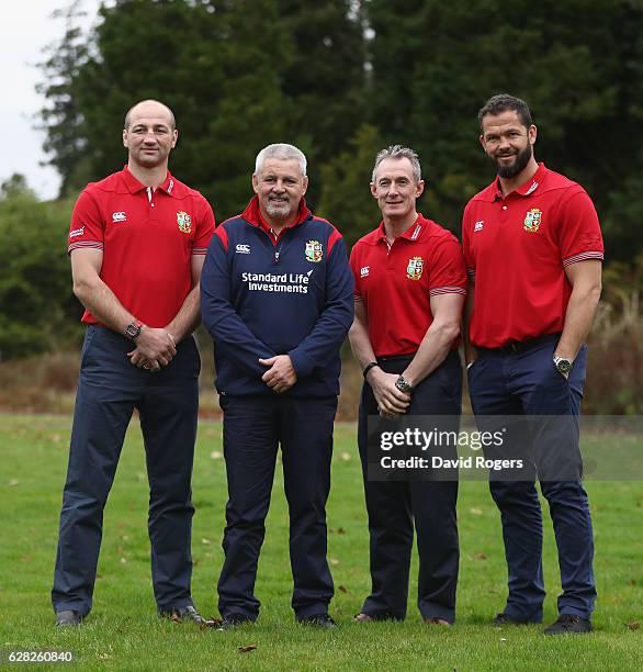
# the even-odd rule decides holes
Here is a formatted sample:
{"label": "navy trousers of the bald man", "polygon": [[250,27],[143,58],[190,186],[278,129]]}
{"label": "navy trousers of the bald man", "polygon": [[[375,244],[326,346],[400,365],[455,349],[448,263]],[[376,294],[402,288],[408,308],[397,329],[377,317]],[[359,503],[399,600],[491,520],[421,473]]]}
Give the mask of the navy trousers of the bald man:
{"label": "navy trousers of the bald man", "polygon": [[149,481],[151,578],[159,609],[192,604],[191,502],[200,358],[192,337],[157,373],[126,354],[133,344],[90,325],[80,379],[60,512],[52,602],[56,612],[87,615],[92,606],[103,509],[125,432],[138,408]]}

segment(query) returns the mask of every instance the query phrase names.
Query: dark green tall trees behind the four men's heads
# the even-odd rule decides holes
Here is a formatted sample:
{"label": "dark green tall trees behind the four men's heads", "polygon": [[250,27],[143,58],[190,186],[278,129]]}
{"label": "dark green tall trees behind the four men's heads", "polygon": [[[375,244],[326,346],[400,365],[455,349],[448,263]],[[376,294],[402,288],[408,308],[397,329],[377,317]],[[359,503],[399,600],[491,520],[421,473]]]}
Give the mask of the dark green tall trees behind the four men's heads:
{"label": "dark green tall trees behind the four men's heads", "polygon": [[[639,1],[517,0],[508,11],[500,0],[115,0],[88,36],[80,13],[80,0],[58,12],[63,37],[45,54],[40,88],[65,195],[123,165],[125,112],[158,98],[180,132],[171,169],[208,198],[218,222],[251,195],[257,152],[290,142],[309,158],[308,202],[350,245],[380,221],[369,192],[374,155],[402,143],[420,156],[421,212],[459,232],[464,204],[493,178],[477,110],[508,91],[531,107],[537,158],[594,199],[608,262],[632,270],[643,254]],[[29,211],[11,225],[2,214],[3,242],[29,235],[36,212],[40,227],[58,216],[60,235],[67,226],[63,206],[35,203],[25,184],[8,184],[3,198],[0,212]],[[27,258],[48,246],[48,264],[60,239],[34,236]],[[27,261],[11,251],[0,251],[4,357],[47,343],[25,313],[69,315],[77,305],[67,271],[52,283],[65,290],[54,299],[46,287],[38,300]]]}

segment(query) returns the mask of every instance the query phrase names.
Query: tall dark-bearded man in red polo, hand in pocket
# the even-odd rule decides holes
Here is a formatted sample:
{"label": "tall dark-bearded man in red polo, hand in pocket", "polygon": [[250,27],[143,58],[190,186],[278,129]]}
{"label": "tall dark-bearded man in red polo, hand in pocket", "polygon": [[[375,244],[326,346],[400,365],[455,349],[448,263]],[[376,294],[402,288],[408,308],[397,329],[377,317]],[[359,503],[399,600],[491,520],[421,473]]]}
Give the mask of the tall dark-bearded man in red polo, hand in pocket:
{"label": "tall dark-bearded man in red polo, hand in pocket", "polygon": [[[519,480],[489,481],[501,514],[509,584],[495,623],[543,618],[538,475],[554,524],[563,586],[560,617],[545,634],[587,632],[596,584],[577,416],[584,341],[601,289],[600,227],[585,190],[535,161],[537,128],[524,101],[494,96],[478,121],[480,142],[497,179],[469,202],[462,225],[470,273],[469,388],[478,423],[526,416],[522,432],[507,443],[521,455],[526,444],[532,463]],[[540,416],[557,416],[555,430]]]}

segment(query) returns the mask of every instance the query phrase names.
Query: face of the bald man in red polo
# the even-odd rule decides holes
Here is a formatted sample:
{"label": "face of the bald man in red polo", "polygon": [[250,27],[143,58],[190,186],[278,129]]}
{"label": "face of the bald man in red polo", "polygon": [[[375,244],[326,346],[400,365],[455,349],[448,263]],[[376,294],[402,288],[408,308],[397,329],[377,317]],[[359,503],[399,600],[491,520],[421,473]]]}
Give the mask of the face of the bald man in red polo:
{"label": "face of the bald man in red polo", "polygon": [[127,120],[123,145],[129,153],[129,163],[146,169],[167,165],[178,138],[168,108],[159,102],[145,101],[132,108]]}

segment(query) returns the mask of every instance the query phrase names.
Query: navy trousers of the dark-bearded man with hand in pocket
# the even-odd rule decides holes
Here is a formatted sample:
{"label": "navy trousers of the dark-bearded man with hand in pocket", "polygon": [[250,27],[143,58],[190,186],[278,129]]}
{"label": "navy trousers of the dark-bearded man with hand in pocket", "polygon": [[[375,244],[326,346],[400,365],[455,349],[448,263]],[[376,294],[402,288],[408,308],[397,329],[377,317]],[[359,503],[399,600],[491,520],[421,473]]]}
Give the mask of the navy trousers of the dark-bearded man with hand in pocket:
{"label": "navy trousers of the dark-bearded man with hand in pocket", "polygon": [[[508,452],[530,456],[533,479],[492,479],[489,488],[503,523],[508,565],[509,595],[505,613],[512,618],[540,623],[545,596],[542,574],[542,516],[535,490],[550,507],[559,550],[563,593],[561,614],[589,619],[596,601],[593,559],[594,539],[587,494],[583,488],[583,461],[578,447],[578,413],[583,397],[587,348],[583,346],[566,380],[552,357],[560,334],[552,334],[514,348],[480,349],[470,367],[469,389],[476,416],[528,416],[535,430],[524,430],[508,440]],[[535,416],[560,416],[555,423]],[[563,416],[568,416],[568,422]],[[480,425],[480,423],[478,423]],[[481,427],[482,429],[482,427]],[[563,459],[561,459],[563,456]],[[488,457],[497,457],[489,455]],[[556,480],[556,470],[564,478]]]}

